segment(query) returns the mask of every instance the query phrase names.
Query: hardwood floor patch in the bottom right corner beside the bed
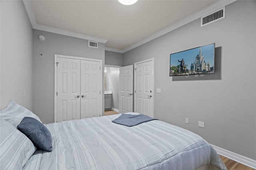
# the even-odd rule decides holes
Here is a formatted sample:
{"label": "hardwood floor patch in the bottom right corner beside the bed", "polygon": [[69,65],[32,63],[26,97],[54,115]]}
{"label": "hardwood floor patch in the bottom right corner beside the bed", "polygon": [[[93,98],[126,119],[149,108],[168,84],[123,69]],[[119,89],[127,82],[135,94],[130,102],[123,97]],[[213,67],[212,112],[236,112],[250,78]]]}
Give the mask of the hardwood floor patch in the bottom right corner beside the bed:
{"label": "hardwood floor patch in the bottom right corner beside the bed", "polygon": [[254,170],[253,168],[240,164],[222,155],[220,155],[220,158],[222,159],[228,170]]}

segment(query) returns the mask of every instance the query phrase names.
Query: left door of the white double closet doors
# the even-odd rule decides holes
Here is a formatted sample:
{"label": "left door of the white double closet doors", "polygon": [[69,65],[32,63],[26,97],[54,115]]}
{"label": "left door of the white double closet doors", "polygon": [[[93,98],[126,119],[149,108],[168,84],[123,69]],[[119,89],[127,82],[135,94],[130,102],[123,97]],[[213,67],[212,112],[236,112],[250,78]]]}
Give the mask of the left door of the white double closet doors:
{"label": "left door of the white double closet doors", "polygon": [[80,60],[58,57],[57,121],[80,119]]}

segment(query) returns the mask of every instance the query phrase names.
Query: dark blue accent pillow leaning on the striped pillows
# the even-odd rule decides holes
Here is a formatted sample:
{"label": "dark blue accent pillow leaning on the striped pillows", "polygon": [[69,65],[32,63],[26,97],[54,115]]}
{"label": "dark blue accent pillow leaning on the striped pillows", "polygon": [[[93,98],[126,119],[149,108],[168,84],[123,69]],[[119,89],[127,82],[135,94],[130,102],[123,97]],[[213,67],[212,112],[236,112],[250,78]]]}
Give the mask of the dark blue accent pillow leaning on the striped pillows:
{"label": "dark blue accent pillow leaning on the striped pillows", "polygon": [[38,120],[24,117],[17,128],[28,136],[38,150],[52,151],[52,135]]}

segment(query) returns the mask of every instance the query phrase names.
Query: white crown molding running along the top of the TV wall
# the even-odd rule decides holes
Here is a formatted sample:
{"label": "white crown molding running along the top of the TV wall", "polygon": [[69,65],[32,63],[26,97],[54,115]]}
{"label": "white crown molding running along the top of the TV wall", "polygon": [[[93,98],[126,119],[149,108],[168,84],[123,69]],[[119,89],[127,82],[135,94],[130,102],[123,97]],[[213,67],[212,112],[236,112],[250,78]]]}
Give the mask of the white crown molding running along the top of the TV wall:
{"label": "white crown molding running along the top of the TV wall", "polygon": [[125,53],[125,52],[127,52],[131,49],[134,49],[134,48],[136,48],[136,47],[138,47],[138,46],[140,46],[144,43],[150,42],[151,40],[154,40],[154,39],[156,39],[156,38],[158,38],[158,37],[160,37],[160,36],[162,36],[162,35],[164,35],[168,32],[171,32],[171,31],[173,31],[173,30],[175,30],[175,29],[177,29],[181,26],[184,26],[185,24],[188,24],[188,23],[190,23],[194,20],[197,20],[198,18],[201,18],[202,16],[205,16],[205,15],[207,15],[207,14],[209,14],[209,13],[215,11],[215,10],[218,10],[219,8],[222,8],[222,7],[224,7],[228,4],[231,4],[232,2],[235,2],[235,1],[236,0],[220,0],[220,1],[210,5],[208,7],[204,8],[204,9],[202,9],[202,10],[200,10],[200,11],[198,11],[198,12],[196,12],[196,13],[194,13],[194,14],[192,14],[192,15],[190,15],[190,16],[188,16],[188,17],[186,17],[186,18],[184,18],[184,19],[166,27],[166,28],[164,28],[163,30],[161,30],[159,32],[156,32],[152,36],[149,36],[148,38],[145,38],[144,40],[141,40],[141,41],[131,45],[130,47],[125,48],[123,50],[123,53]]}

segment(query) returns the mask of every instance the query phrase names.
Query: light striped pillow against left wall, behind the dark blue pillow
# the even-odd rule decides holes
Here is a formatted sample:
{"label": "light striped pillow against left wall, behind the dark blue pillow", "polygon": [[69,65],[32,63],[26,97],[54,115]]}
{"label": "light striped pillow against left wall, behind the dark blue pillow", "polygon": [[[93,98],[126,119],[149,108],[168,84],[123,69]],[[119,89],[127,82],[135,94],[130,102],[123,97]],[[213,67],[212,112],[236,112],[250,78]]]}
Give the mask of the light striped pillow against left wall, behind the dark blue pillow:
{"label": "light striped pillow against left wall, behind the dark blue pillow", "polygon": [[1,119],[5,119],[6,121],[10,122],[15,127],[20,124],[24,117],[33,117],[41,122],[39,117],[37,117],[34,113],[29,111],[25,107],[15,103],[13,99],[10,101],[5,109],[0,111],[0,117]]}

